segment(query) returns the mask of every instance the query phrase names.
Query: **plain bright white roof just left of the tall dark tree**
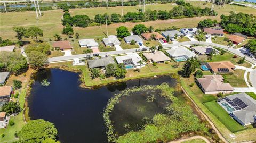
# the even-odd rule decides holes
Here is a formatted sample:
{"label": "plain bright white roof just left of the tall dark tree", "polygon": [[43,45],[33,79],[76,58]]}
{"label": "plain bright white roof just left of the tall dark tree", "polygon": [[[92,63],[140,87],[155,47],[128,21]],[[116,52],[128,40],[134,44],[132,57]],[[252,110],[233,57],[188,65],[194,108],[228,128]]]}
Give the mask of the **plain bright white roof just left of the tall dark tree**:
{"label": "plain bright white roof just left of the tall dark tree", "polygon": [[176,48],[172,48],[169,50],[166,50],[166,52],[168,54],[170,54],[172,57],[177,57],[177,56],[183,56],[186,55],[189,58],[191,57],[195,57],[196,54],[193,53],[192,51],[189,51],[189,49],[185,48],[185,47],[176,47]]}

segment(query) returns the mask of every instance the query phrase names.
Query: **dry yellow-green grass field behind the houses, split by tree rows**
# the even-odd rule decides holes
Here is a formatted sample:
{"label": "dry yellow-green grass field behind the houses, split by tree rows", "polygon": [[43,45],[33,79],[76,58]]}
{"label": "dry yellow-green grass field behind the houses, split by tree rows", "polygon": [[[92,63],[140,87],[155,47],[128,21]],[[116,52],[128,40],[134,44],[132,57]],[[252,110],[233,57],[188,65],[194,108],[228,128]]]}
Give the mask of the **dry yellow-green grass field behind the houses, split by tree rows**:
{"label": "dry yellow-green grass field behind the houses, split by tree rows", "polygon": [[[200,6],[200,7],[211,7],[210,3],[207,3],[206,5],[203,5],[203,2],[201,5],[199,5],[199,2],[190,2],[194,6]],[[175,5],[173,4],[156,4],[156,5],[146,5],[146,9],[152,9],[152,10],[170,10]],[[129,6],[124,7],[124,13],[128,11],[138,11],[138,6]],[[225,7],[219,9],[216,8],[219,15],[212,19],[219,19],[219,16],[221,14],[228,14],[230,10],[235,10],[236,12],[244,12],[248,14],[256,14],[256,11],[254,9],[249,7],[242,7],[242,6],[236,6],[236,5],[226,5]],[[71,15],[75,14],[86,14],[90,16],[90,18],[93,18],[96,14],[104,14],[104,13],[119,13],[121,14],[122,10],[121,7],[109,7],[109,9],[106,9],[104,7],[97,7],[97,8],[85,8],[85,9],[71,9],[70,13]],[[61,24],[61,17],[63,16],[62,10],[52,10],[52,11],[45,11],[43,12],[44,16],[42,16],[39,21],[36,21],[36,14],[34,11],[25,11],[25,12],[9,12],[9,13],[0,13],[1,21],[0,21],[0,37],[3,39],[10,39],[17,41],[17,38],[15,37],[15,33],[12,30],[13,26],[23,26],[28,28],[29,26],[39,26],[44,31],[44,37],[40,37],[41,40],[48,41],[49,39],[53,39],[53,35],[55,33],[61,33],[63,26]],[[201,17],[201,18],[184,18],[184,19],[171,19],[171,20],[157,20],[157,21],[149,21],[149,22],[140,22],[141,24],[145,24],[147,27],[153,26],[154,29],[159,28],[167,28],[171,26],[176,27],[194,27],[197,26],[197,23],[205,18],[209,17]],[[129,28],[131,30],[135,24],[139,23],[117,23],[117,24],[111,24],[108,26],[109,34],[116,34],[116,28],[123,25]],[[74,28],[74,32],[79,33],[80,38],[102,38],[106,37],[105,33],[106,28],[105,26],[95,26],[95,27],[87,27],[87,28]],[[65,38],[67,36],[62,35],[62,38]],[[30,38],[25,40],[31,40]]]}

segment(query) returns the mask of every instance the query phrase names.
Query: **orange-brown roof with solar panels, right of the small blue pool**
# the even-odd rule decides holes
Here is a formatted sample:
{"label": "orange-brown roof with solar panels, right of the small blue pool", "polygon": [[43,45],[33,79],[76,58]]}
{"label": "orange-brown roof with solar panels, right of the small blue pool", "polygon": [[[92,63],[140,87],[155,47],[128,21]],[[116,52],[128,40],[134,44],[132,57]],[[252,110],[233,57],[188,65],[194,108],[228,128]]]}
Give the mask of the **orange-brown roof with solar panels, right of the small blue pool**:
{"label": "orange-brown roof with solar panels, right of the small blue pool", "polygon": [[233,72],[235,65],[230,61],[225,62],[207,62],[207,64],[211,67],[213,72],[219,72],[219,68],[228,68],[230,72]]}

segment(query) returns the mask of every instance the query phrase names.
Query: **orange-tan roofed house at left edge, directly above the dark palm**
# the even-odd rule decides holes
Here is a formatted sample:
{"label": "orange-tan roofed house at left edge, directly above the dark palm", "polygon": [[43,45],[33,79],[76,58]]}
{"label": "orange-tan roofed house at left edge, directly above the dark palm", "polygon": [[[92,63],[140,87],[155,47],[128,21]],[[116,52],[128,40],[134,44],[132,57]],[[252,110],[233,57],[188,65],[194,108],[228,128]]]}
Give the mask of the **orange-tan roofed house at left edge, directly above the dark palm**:
{"label": "orange-tan roofed house at left edge, directly above the dark palm", "polygon": [[10,99],[10,95],[12,94],[12,86],[3,86],[0,87],[0,107],[8,102]]}

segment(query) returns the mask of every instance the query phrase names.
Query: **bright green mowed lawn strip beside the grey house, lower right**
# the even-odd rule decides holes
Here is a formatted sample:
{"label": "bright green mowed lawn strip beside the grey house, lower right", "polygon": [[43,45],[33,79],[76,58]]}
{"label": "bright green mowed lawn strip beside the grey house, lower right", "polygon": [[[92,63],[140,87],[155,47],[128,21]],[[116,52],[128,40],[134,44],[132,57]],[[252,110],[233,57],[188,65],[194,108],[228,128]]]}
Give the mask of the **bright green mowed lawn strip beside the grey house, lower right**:
{"label": "bright green mowed lawn strip beside the grey house, lower right", "polygon": [[226,110],[224,110],[215,100],[206,102],[204,105],[210,110],[231,132],[237,132],[245,129],[242,125],[232,119]]}

